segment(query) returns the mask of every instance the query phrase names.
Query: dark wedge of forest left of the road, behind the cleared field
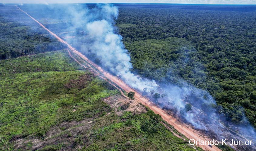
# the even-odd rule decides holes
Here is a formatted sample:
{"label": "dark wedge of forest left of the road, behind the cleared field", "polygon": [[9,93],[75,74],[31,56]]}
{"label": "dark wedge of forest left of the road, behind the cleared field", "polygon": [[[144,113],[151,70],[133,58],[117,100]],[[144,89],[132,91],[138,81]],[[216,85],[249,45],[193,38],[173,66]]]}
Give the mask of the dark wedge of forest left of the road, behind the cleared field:
{"label": "dark wedge of forest left of the road, behind the cleared field", "polygon": [[38,34],[17,22],[0,17],[0,59],[64,49],[54,38]]}

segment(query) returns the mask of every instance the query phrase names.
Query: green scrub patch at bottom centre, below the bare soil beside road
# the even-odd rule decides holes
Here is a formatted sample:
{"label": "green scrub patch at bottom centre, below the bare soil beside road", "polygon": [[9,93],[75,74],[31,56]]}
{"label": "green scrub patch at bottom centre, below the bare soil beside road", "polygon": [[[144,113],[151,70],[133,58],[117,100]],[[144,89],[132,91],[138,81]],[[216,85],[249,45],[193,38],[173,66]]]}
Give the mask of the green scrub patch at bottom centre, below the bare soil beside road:
{"label": "green scrub patch at bottom centre, below the bare soil beside road", "polygon": [[153,111],[105,116],[92,128],[93,143],[81,150],[201,150],[193,149],[188,141],[176,137],[155,116]]}

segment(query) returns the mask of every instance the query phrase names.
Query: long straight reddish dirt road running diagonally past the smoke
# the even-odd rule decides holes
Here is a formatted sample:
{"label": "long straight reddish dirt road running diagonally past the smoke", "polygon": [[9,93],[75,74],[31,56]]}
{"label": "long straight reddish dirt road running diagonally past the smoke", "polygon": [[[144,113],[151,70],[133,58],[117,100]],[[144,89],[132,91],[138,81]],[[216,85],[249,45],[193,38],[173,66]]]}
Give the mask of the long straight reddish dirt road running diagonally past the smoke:
{"label": "long straight reddish dirt road running diagonally past the smoke", "polygon": [[[18,6],[16,6],[18,9],[20,9]],[[25,14],[27,14],[25,11],[23,11],[22,9],[20,9],[22,12],[24,12]],[[78,52],[77,50],[75,50],[75,48],[73,48],[70,44],[68,44],[66,41],[62,40],[60,37],[58,37],[56,34],[54,34],[52,31],[48,30],[44,25],[42,25],[41,23],[39,23],[37,20],[35,20],[35,18],[31,17],[29,14],[27,14],[30,18],[32,18],[34,21],[36,21],[40,26],[42,26],[45,30],[47,30],[50,34],[52,34],[55,38],[57,38],[60,42],[65,43],[68,48],[75,53],[76,55],[78,55],[79,57],[81,57],[82,59],[84,59],[87,63],[89,63],[91,66],[94,66],[95,68],[98,69],[99,72],[101,72],[102,75],[104,75],[107,79],[109,79],[110,81],[112,81],[113,83],[115,83],[116,85],[118,85],[120,88],[122,88],[123,90],[125,90],[126,92],[130,92],[133,91],[135,92],[135,98],[142,104],[144,104],[145,106],[149,107],[151,110],[153,110],[156,114],[161,115],[161,117],[170,125],[172,125],[176,130],[178,130],[178,132],[180,132],[181,134],[185,135],[185,137],[187,137],[188,139],[194,139],[194,140],[209,140],[206,137],[202,137],[201,135],[199,135],[198,133],[196,133],[195,130],[191,129],[190,127],[188,127],[188,125],[179,122],[175,117],[170,116],[168,113],[166,113],[164,110],[162,110],[161,108],[157,107],[155,104],[152,104],[152,102],[149,102],[148,99],[146,99],[145,97],[143,97],[142,95],[140,95],[140,93],[136,92],[134,89],[130,88],[127,84],[125,84],[125,82],[121,81],[120,79],[118,79],[117,77],[111,75],[110,73],[108,73],[107,71],[105,71],[104,69],[102,69],[100,66],[98,66],[97,64],[93,63],[90,59],[88,59],[86,56],[84,56],[82,53]],[[77,61],[77,60],[76,60]],[[78,61],[77,61],[78,62]],[[84,66],[85,67],[85,66]],[[98,72],[96,71],[96,72]],[[105,78],[104,78],[105,79]],[[209,151],[221,151],[220,149],[218,149],[216,146],[208,146],[208,145],[199,145],[202,149],[204,150],[209,150]]]}

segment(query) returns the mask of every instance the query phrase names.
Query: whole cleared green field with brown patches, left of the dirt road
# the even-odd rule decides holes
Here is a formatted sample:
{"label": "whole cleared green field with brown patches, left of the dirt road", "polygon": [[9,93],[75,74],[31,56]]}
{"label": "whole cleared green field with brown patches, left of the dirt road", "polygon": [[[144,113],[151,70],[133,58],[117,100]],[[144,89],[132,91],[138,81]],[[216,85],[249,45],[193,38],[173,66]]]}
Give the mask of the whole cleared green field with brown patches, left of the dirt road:
{"label": "whole cleared green field with brown patches, left of the dirt road", "polygon": [[145,107],[117,115],[103,99],[120,92],[67,50],[1,60],[0,73],[0,149],[201,150]]}

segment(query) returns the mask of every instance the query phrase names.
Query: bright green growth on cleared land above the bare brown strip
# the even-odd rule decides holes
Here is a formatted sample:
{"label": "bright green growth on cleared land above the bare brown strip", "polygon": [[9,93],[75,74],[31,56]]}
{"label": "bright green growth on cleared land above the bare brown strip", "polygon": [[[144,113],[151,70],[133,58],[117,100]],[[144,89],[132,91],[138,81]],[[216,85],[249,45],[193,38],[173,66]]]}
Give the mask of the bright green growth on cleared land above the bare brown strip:
{"label": "bright green growth on cleared land above the bare brown strip", "polygon": [[[43,137],[62,121],[79,121],[109,109],[97,101],[118,91],[106,89],[108,84],[92,73],[76,70],[80,67],[67,56],[62,50],[1,61],[2,138]],[[84,81],[78,80],[81,77]]]}

